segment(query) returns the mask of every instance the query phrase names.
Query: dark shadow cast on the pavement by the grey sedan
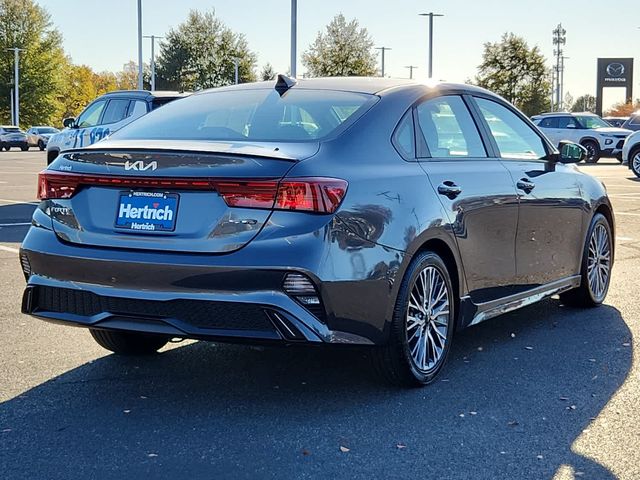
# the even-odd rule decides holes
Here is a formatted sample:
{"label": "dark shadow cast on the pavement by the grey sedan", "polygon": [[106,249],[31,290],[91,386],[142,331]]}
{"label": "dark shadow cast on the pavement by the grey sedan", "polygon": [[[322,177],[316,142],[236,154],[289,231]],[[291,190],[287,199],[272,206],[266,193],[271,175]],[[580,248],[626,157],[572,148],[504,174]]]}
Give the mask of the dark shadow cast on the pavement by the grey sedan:
{"label": "dark shadow cast on the pavement by the grey sedan", "polygon": [[624,383],[630,335],[615,308],[548,300],[460,332],[441,380],[410,390],[381,383],[359,349],[200,342],[106,355],[0,404],[0,470],[541,479],[570,466],[614,478],[572,444]]}

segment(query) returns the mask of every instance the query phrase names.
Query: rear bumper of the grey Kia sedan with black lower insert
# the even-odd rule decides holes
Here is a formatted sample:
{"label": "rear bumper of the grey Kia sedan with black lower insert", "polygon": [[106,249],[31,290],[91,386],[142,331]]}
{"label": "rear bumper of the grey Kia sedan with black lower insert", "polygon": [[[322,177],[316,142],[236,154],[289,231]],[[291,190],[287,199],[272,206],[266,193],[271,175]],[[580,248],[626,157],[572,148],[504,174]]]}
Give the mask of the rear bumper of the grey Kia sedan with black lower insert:
{"label": "rear bumper of the grey Kia sedan with black lower insert", "polygon": [[[300,249],[293,244],[280,258],[259,246],[188,255],[75,246],[32,227],[21,249],[30,270],[22,310],[51,322],[201,340],[382,343],[388,278],[323,278],[316,268],[323,254],[312,245],[318,238],[299,236]],[[320,311],[283,291],[292,271],[316,285]]]}

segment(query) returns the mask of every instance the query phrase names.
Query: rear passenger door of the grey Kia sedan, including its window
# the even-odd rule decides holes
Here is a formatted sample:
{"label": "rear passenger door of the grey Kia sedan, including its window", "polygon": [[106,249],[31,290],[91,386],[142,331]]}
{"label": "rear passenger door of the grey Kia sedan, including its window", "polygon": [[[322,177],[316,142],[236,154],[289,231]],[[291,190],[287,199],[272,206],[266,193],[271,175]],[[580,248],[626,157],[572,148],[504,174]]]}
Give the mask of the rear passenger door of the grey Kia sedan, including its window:
{"label": "rear passenger door of the grey Kia sedan, including its window", "polygon": [[474,303],[508,296],[515,278],[515,186],[490,158],[465,99],[444,95],[414,110],[420,164],[449,215]]}

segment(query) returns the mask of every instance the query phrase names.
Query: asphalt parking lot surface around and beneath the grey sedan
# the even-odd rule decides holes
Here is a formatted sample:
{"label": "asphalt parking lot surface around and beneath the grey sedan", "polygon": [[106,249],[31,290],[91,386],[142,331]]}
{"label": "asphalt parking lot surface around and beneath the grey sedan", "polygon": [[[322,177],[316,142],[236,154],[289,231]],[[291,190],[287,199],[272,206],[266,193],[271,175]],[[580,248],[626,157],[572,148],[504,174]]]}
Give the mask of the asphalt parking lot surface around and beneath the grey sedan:
{"label": "asphalt parking lot surface around and beneath the grey sedan", "polygon": [[606,305],[551,299],[461,332],[443,380],[361,350],[179,343],[123,359],[20,313],[41,152],[0,153],[0,477],[640,478],[640,181],[615,160]]}

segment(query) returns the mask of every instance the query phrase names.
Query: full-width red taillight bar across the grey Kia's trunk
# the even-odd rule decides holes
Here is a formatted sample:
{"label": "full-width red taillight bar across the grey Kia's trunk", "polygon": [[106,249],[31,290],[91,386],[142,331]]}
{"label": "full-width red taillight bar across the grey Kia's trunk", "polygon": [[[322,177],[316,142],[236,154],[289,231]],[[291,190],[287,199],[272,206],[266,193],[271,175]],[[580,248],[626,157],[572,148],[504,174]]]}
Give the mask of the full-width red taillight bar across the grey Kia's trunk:
{"label": "full-width red taillight bar across the grey Kia's trunk", "polygon": [[38,174],[38,199],[71,198],[83,186],[217,191],[230,207],[335,212],[347,193],[337,178],[223,180],[213,178],[125,177],[44,170]]}

